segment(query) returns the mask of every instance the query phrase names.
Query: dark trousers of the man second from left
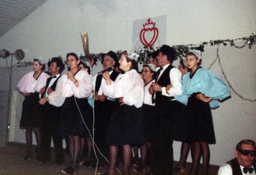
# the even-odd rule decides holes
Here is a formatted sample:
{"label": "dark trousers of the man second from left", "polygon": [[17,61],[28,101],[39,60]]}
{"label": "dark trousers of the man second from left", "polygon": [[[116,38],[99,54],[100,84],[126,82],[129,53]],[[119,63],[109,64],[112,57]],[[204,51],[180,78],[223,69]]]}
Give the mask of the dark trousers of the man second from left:
{"label": "dark trousers of the man second from left", "polygon": [[51,139],[54,144],[55,151],[55,161],[63,162],[64,153],[62,147],[62,137],[58,136],[58,122],[60,116],[60,107],[55,107],[46,103],[44,106],[41,106],[41,159],[42,161],[51,160]]}

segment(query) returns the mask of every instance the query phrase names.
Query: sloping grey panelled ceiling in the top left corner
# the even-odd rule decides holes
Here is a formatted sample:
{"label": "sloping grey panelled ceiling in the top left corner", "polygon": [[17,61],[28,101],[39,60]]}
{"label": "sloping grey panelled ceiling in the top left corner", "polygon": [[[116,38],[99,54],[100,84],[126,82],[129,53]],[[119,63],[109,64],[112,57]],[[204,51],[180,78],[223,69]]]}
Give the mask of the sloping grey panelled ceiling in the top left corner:
{"label": "sloping grey panelled ceiling in the top left corner", "polygon": [[0,0],[0,37],[47,0]]}

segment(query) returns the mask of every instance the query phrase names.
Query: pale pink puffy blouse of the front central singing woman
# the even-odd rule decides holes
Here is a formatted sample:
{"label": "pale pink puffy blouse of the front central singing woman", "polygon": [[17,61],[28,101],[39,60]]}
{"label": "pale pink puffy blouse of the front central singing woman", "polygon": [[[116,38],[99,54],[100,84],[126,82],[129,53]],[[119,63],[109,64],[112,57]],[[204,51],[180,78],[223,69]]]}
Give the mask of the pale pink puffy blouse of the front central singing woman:
{"label": "pale pink puffy blouse of the front central singing woman", "polygon": [[144,83],[136,70],[132,69],[124,74],[119,74],[111,85],[102,84],[103,93],[110,98],[123,97],[127,105],[141,107],[144,100]]}

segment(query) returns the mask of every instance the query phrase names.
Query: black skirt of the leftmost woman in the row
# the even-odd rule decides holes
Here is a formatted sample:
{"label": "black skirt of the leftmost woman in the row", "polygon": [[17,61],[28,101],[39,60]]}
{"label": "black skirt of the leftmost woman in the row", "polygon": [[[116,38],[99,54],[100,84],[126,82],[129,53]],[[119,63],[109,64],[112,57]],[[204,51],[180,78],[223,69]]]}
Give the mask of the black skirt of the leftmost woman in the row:
{"label": "black skirt of the leftmost woman in the row", "polygon": [[22,117],[19,127],[39,127],[41,119],[39,115],[39,94],[38,92],[31,93],[26,96],[22,105]]}

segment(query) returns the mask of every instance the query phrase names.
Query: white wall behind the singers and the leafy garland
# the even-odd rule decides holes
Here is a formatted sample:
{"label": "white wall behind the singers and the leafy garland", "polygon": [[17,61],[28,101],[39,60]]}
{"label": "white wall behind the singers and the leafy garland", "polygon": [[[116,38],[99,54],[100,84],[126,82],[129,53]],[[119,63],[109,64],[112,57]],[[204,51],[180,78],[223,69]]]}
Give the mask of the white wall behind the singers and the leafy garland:
{"label": "white wall behind the singers and the leafy garland", "polygon": [[[234,39],[255,33],[255,9],[254,0],[49,0],[3,35],[0,48],[10,52],[23,49],[26,55],[24,60],[39,56],[46,59],[59,55],[65,57],[68,52],[83,53],[80,32],[88,32],[92,53],[131,50],[133,20],[161,15],[167,15],[166,44],[170,46],[211,39]],[[208,68],[215,59],[216,49],[205,48],[203,67]],[[248,47],[220,47],[220,57],[228,80],[237,92],[251,99],[256,98],[255,55],[255,46],[251,50]],[[2,58],[0,66],[6,66]],[[99,63],[94,74],[101,69],[100,66]],[[13,70],[13,90],[17,81],[29,70],[32,70],[31,67]],[[223,78],[218,62],[211,70]],[[7,69],[1,68],[0,91],[8,90],[7,75]],[[231,159],[234,146],[240,140],[256,140],[255,102],[244,101],[231,93],[231,99],[212,110],[217,144],[210,145],[210,164],[220,165]],[[18,105],[21,107],[21,104]],[[22,140],[20,137],[14,138]],[[180,143],[174,143],[174,150],[174,158],[178,160]]]}

